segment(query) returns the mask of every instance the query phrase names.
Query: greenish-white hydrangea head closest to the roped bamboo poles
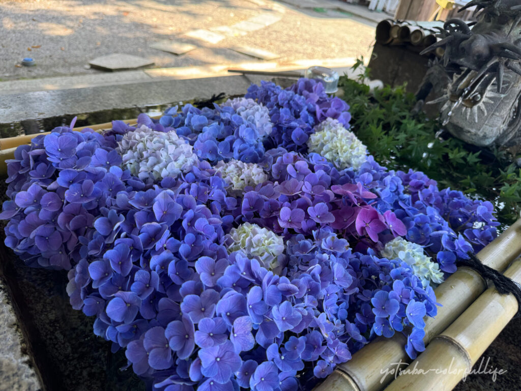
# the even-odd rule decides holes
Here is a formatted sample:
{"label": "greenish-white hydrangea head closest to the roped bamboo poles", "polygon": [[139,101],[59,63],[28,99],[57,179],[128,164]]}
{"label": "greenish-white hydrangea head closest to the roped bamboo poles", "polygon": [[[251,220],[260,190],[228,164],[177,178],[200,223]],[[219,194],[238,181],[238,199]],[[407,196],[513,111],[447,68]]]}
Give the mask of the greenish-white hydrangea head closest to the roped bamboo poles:
{"label": "greenish-white hydrangea head closest to the roped bamboo poles", "polygon": [[425,255],[423,247],[403,238],[394,238],[386,244],[381,255],[387,259],[399,259],[413,267],[414,274],[421,280],[426,288],[430,282],[441,284],[443,272],[436,262],[432,262],[430,256]]}

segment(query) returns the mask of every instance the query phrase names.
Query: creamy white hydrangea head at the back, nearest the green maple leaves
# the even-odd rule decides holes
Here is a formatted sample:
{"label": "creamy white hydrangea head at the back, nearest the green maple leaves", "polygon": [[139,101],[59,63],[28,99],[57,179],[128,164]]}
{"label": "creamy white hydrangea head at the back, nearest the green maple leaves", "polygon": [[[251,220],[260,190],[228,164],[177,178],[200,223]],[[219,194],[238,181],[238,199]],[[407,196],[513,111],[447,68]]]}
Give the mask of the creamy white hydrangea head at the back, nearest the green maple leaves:
{"label": "creamy white hydrangea head at the back, nearest the green maple leaves", "polygon": [[339,169],[358,169],[365,163],[367,147],[337,119],[322,121],[314,131],[307,140],[309,152],[318,153]]}

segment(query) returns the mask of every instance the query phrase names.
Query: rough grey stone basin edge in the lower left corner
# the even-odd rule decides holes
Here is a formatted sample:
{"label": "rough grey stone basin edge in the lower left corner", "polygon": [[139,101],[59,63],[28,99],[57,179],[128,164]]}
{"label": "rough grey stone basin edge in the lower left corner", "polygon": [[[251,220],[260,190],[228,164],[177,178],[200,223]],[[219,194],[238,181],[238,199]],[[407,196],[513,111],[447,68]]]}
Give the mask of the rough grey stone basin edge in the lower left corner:
{"label": "rough grey stone basin edge in the lower left corner", "polygon": [[40,391],[40,378],[34,371],[6,286],[0,279],[0,391]]}

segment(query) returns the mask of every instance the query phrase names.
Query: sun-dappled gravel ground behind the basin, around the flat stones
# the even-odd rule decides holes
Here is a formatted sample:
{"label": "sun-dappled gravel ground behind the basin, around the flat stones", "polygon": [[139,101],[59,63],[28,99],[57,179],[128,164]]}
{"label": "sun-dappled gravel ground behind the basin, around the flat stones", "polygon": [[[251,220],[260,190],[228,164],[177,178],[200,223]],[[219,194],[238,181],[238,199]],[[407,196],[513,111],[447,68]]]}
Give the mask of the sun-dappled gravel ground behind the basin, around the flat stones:
{"label": "sun-dappled gravel ground behind the basin, around the flat stones", "polygon": [[[110,53],[149,58],[155,67],[261,61],[229,49],[249,45],[298,59],[369,56],[374,38],[370,22],[337,11],[305,13],[269,0],[18,0],[0,2],[0,80],[94,74],[89,60]],[[280,21],[217,44],[183,34],[195,29],[229,27],[270,14]],[[176,56],[148,47],[172,40],[198,48]],[[30,49],[30,50],[29,50]],[[20,67],[23,57],[36,66]]]}

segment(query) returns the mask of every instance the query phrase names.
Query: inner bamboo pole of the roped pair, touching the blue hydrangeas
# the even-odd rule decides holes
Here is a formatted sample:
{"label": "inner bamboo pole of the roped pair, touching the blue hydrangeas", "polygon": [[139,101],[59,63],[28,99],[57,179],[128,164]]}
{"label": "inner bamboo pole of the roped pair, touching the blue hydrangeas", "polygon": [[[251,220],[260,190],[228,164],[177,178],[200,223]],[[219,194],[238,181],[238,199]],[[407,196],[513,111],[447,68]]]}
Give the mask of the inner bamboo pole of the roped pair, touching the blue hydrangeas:
{"label": "inner bamboo pole of the roped pair, touching the blue hydrangeas", "polygon": [[[519,253],[521,253],[521,219],[506,229],[497,239],[489,243],[478,254],[485,265],[495,270],[503,271]],[[435,318],[425,320],[425,344],[446,327],[448,327],[476,298],[486,289],[486,283],[475,270],[460,267],[440,284],[435,290],[437,301],[443,307],[438,307]],[[378,337],[361,350],[354,353],[352,359],[337,366],[329,375],[331,381],[320,384],[316,391],[378,391],[387,382],[380,382],[384,371],[393,368],[392,363],[410,362],[405,353],[405,337],[396,333],[392,338]],[[345,378],[349,377],[349,381]],[[331,388],[332,384],[342,384]]]}

